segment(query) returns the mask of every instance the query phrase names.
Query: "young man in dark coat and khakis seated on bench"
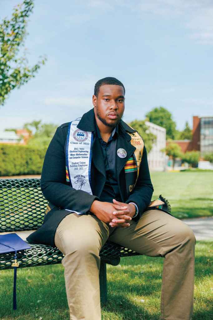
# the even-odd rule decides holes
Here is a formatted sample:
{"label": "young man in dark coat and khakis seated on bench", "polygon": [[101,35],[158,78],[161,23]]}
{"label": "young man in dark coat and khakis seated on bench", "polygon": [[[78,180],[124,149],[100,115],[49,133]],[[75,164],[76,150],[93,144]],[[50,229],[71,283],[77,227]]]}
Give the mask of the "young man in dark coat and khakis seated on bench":
{"label": "young man in dark coat and khakis seated on bench", "polygon": [[70,319],[101,320],[99,252],[112,242],[164,257],[161,320],[189,320],[194,298],[192,230],[148,207],[153,187],[140,135],[121,118],[124,85],[95,84],[94,109],[62,124],[47,150],[41,188],[49,201],[29,242],[56,245],[65,257]]}

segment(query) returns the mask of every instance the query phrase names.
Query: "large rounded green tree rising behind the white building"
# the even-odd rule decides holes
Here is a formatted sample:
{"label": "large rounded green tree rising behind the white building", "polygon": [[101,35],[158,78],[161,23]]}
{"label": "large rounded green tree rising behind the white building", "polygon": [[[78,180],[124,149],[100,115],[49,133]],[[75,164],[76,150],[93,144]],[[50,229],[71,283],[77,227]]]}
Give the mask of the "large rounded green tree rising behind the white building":
{"label": "large rounded green tree rising behind the white building", "polygon": [[172,120],[171,113],[164,107],[154,108],[146,114],[148,121],[166,129],[166,139],[174,139],[176,123]]}

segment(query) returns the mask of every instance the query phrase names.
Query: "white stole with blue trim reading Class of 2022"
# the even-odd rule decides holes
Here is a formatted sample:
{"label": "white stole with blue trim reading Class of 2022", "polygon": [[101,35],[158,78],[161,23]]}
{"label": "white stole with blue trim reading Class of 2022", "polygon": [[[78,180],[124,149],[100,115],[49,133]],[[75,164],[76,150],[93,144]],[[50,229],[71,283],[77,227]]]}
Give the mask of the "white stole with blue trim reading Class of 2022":
{"label": "white stole with blue trim reading Class of 2022", "polygon": [[76,190],[92,195],[90,168],[93,132],[77,128],[81,118],[69,124],[66,145],[67,178]]}

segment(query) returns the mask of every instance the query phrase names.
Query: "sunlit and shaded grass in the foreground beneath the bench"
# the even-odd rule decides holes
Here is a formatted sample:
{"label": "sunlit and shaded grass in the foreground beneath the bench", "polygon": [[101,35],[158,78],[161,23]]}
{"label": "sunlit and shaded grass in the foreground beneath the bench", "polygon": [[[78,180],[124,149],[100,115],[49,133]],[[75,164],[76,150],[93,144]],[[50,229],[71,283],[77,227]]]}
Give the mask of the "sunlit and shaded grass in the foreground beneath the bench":
{"label": "sunlit and shaded grass in the foreground beneath the bench", "polygon": [[[212,319],[212,241],[195,247],[195,292],[192,320]],[[108,303],[103,320],[158,320],[163,258],[126,257],[107,266]],[[62,265],[18,270],[17,305],[12,311],[13,270],[0,272],[1,320],[69,320]]]}

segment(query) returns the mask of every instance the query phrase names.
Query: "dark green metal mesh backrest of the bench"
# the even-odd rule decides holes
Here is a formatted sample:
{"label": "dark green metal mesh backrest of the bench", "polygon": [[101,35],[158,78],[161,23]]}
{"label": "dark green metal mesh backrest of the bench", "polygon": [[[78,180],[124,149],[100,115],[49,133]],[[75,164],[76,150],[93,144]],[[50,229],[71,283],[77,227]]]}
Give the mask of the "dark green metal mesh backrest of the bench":
{"label": "dark green metal mesh backrest of the bench", "polygon": [[0,179],[0,232],[38,229],[47,203],[40,179]]}

